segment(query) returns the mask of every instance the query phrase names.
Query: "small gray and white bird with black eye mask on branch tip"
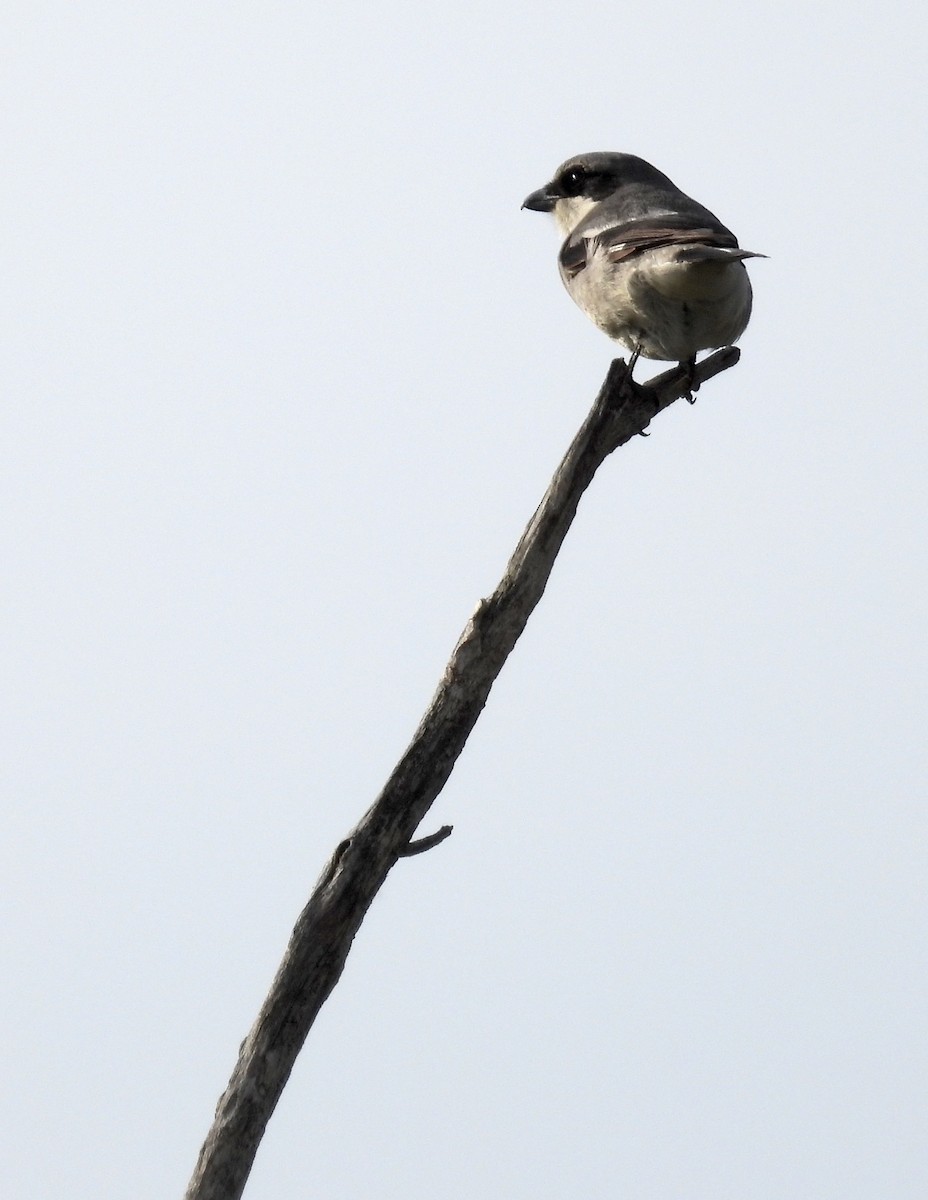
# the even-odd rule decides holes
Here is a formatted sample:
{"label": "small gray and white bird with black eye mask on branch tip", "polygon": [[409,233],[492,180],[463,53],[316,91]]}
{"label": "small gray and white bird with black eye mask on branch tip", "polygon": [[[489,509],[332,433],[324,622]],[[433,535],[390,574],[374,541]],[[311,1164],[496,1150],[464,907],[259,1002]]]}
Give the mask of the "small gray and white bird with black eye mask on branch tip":
{"label": "small gray and white bird with black eye mask on branch tip", "polygon": [[553,212],[570,296],[603,332],[639,354],[688,364],[731,346],[750,317],[746,258],[730,229],[630,154],[581,154],[523,209]]}

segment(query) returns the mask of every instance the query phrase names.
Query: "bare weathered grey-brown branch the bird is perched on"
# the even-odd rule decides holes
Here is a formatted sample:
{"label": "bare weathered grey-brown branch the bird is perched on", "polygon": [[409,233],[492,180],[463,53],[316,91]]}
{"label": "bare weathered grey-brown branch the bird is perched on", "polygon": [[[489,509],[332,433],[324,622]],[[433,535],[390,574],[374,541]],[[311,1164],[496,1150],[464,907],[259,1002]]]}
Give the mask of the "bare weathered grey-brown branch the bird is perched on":
{"label": "bare weathered grey-brown branch the bird is perched on", "polygon": [[611,365],[593,408],[522,534],[505,574],[471,617],[419,728],[385,787],[335,850],[300,913],[283,961],[220,1098],[186,1200],[238,1200],[258,1144],[316,1014],[339,982],[354,935],[397,858],[430,848],[447,827],[411,841],[467,742],[509,652],[541,599],[580,497],[599,466],[642,433],[663,408],[738,361],[734,348],[646,385],[623,359]]}

